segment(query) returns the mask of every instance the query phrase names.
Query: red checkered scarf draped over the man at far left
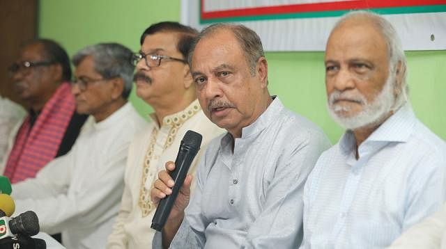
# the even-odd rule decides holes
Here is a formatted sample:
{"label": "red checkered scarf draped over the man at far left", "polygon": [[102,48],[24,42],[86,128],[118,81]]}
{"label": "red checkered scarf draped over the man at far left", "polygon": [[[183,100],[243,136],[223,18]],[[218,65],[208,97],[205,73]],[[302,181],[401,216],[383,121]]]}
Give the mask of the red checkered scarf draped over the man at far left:
{"label": "red checkered scarf draped over the man at far left", "polygon": [[25,118],[15,136],[4,172],[12,183],[36,177],[37,172],[54,159],[75,109],[70,84],[62,83],[43,106],[31,130],[30,116]]}

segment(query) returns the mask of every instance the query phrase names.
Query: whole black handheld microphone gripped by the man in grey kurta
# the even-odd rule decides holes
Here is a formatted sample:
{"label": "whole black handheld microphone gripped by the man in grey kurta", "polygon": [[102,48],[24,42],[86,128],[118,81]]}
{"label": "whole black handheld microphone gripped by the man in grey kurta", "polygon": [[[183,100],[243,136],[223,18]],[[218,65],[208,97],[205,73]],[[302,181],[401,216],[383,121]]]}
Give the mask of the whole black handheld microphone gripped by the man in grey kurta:
{"label": "whole black handheld microphone gripped by the man in grey kurta", "polygon": [[161,231],[162,227],[166,223],[167,217],[169,217],[170,211],[176,196],[180,191],[181,186],[187,175],[187,170],[189,170],[194,157],[200,150],[201,139],[203,137],[195,131],[187,131],[181,140],[180,150],[175,160],[175,170],[170,173],[172,179],[174,179],[174,187],[172,188],[172,193],[166,198],[160,200],[160,204],[155,211],[155,215],[152,219],[151,227],[157,231]]}

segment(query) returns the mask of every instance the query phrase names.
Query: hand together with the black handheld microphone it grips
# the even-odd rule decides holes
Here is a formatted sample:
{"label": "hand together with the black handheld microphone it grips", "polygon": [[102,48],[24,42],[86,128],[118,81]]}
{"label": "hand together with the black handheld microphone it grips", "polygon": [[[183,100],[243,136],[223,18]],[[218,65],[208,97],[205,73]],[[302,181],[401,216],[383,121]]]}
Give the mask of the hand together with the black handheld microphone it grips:
{"label": "hand together with the black handheld microphone it grips", "polygon": [[175,163],[167,162],[166,170],[160,172],[153,184],[151,199],[155,204],[159,202],[152,220],[153,229],[161,231],[168,218],[179,223],[183,219],[192,182],[192,176],[187,175],[187,170],[200,149],[201,139],[202,136],[197,132],[187,131],[181,140]]}

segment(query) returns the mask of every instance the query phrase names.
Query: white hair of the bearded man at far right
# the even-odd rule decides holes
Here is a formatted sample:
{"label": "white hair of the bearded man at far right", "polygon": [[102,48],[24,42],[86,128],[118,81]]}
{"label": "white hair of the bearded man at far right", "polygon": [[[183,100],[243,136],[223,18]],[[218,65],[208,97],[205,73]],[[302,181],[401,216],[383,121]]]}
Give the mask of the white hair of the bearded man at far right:
{"label": "white hair of the bearded man at far right", "polygon": [[[332,32],[337,29],[339,25],[344,23],[348,19],[362,18],[365,17],[370,19],[371,22],[376,26],[378,31],[383,35],[385,43],[387,45],[387,54],[389,55],[389,74],[393,74],[397,70],[397,65],[401,62],[401,93],[395,99],[394,108],[399,108],[403,103],[408,100],[408,84],[406,82],[407,78],[407,61],[406,55],[404,54],[403,46],[401,45],[401,40],[398,36],[397,31],[394,29],[392,24],[376,13],[370,11],[351,11],[346,15],[342,16],[341,19],[334,25]],[[396,84],[394,88],[396,88]]]}

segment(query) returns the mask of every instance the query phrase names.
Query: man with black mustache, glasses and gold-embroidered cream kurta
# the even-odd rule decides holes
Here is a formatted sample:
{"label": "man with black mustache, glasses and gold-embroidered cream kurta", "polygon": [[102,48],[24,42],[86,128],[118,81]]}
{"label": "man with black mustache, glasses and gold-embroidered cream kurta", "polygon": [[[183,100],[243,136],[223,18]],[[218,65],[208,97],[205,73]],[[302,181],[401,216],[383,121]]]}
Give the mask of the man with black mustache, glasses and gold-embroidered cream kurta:
{"label": "man with black mustache, glasses and gold-embroidered cream kurta", "polygon": [[[141,49],[134,54],[137,95],[155,113],[130,145],[121,209],[107,248],[151,248],[155,230],[151,220],[155,205],[150,189],[165,161],[176,158],[180,140],[189,129],[203,135],[201,152],[222,129],[201,111],[195,94],[187,54],[197,31],[177,22],[160,22],[141,35]],[[197,159],[190,169],[194,172]]]}

